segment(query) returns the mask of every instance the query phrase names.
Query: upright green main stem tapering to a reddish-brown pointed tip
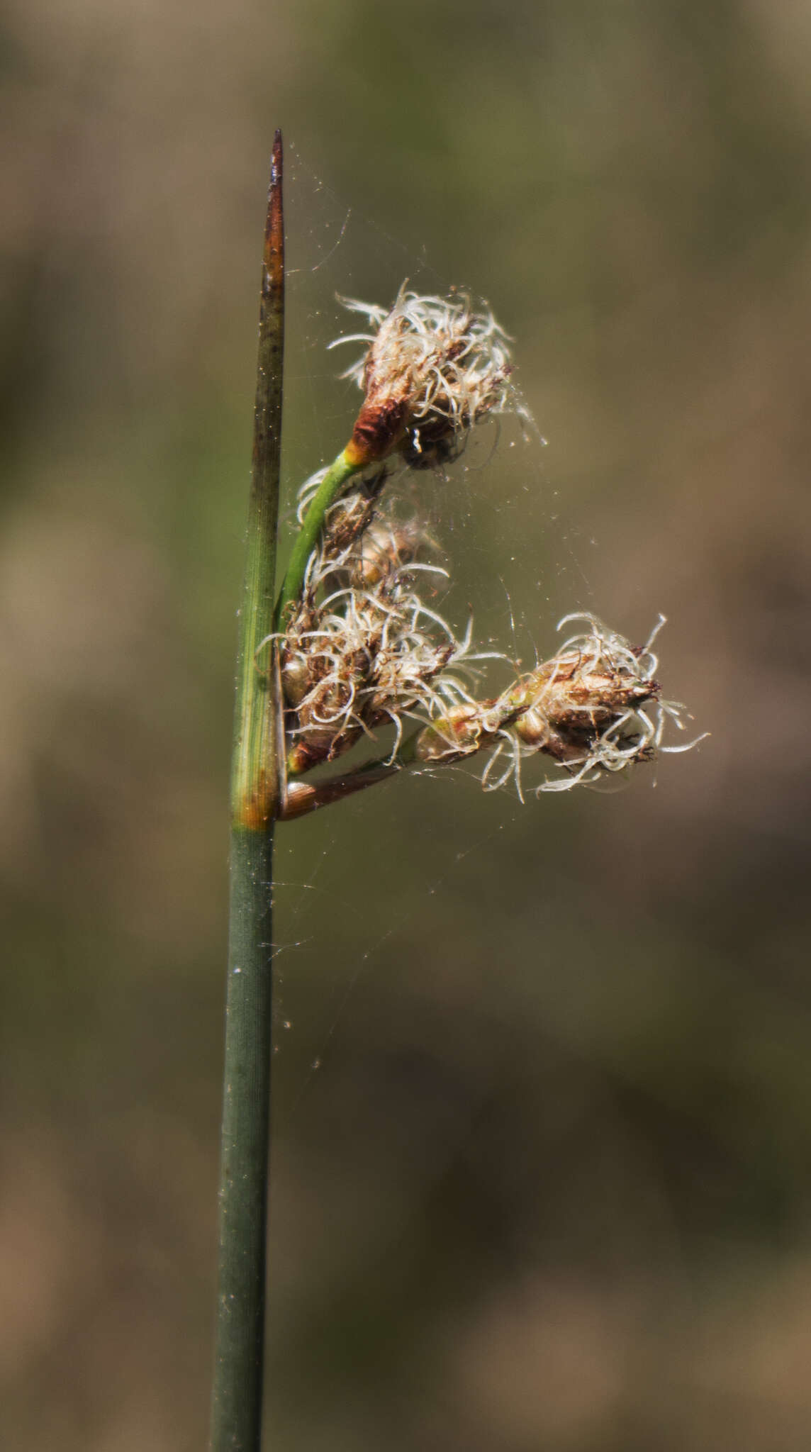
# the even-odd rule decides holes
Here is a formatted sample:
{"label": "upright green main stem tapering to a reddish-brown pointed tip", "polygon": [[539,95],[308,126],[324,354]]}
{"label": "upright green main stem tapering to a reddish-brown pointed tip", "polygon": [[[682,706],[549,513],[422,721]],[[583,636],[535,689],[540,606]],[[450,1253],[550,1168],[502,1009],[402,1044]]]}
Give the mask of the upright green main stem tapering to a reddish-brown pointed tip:
{"label": "upright green main stem tapering to a reddish-brown pointed tip", "polygon": [[279,694],[273,652],[281,444],[284,228],[281,135],[267,199],[245,592],[239,614],[231,775],[231,926],[219,1183],[219,1297],[212,1452],[261,1440],[270,1150],[273,826],[279,812]]}

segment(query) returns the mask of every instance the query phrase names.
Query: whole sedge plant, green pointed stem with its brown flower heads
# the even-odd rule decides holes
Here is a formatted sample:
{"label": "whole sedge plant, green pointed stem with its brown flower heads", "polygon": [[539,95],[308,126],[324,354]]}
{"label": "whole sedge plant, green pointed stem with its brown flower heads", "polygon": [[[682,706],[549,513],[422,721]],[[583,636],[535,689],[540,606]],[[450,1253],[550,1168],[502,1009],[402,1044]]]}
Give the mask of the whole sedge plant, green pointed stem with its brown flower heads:
{"label": "whole sedge plant, green pointed stem with its brown flower heads", "polygon": [[[524,762],[559,770],[531,790],[595,784],[651,761],[683,729],[653,653],[660,617],[633,646],[596,616],[532,671],[476,650],[473,621],[441,614],[448,571],[398,482],[442,469],[485,420],[531,417],[512,382],[509,338],[466,296],[400,287],[393,306],[344,301],[367,319],[344,378],[363,392],[348,443],[299,491],[299,533],[274,604],[281,439],[284,263],[281,141],[274,144],[263,289],[232,767],[231,934],[221,1178],[218,1350],[212,1452],[258,1452],[271,1063],[273,828],[408,771],[483,759],[482,786]],[[506,684],[483,690],[490,662]],[[384,739],[382,739],[384,738]],[[699,738],[701,739],[701,738]],[[355,746],[370,755],[334,765]],[[316,768],[322,768],[316,771]],[[308,780],[315,772],[315,778]]]}

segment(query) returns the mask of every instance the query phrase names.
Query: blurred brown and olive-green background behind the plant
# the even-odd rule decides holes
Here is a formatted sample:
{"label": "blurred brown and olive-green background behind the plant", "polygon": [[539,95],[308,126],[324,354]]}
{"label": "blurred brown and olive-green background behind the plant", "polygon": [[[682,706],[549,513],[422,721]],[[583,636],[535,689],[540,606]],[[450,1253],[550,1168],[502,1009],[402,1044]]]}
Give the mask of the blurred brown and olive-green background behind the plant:
{"label": "blurred brown and olive-green background behind the plant", "polygon": [[512,649],[512,614],[531,659],[567,610],[634,640],[662,610],[712,735],[615,796],[448,771],[280,831],[267,1445],[796,1452],[811,12],[10,0],[0,30],[3,1445],[206,1439],[281,125],[287,517],[355,404],[334,293],[470,286],[548,446],[428,481],[454,619]]}

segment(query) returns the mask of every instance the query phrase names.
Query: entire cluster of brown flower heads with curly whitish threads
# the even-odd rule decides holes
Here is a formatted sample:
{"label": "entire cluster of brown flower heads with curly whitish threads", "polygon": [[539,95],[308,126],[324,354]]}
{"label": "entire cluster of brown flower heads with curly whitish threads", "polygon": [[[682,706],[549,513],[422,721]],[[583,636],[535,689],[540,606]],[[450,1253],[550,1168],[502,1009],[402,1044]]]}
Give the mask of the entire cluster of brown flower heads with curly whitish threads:
{"label": "entire cluster of brown flower heads with curly whitish threads", "polygon": [[[563,778],[535,787],[560,791],[659,751],[689,749],[663,745],[667,723],[683,729],[685,709],[663,700],[656,680],[651,648],[662,617],[647,643],[634,648],[595,616],[567,616],[561,624],[580,621],[580,630],[551,659],[498,696],[473,694],[480,662],[506,656],[473,652],[472,621],[458,637],[438,613],[447,569],[435,562],[425,524],[400,518],[383,498],[384,460],[396,452],[411,468],[444,463],[483,418],[528,418],[509,382],[506,335],[466,299],[402,289],[387,314],[367,303],[347,306],[376,328],[338,340],[367,344],[345,375],[366,393],[345,450],[348,457],[354,449],[361,463],[324,510],[303,585],[280,630],[289,777],[337,761],[363,736],[377,741],[386,726],[395,727],[393,743],[379,767],[429,768],[486,752],[485,788],[512,778],[521,799],[527,756],[543,754],[564,768]],[[374,463],[376,472],[363,472]],[[322,499],[328,476],[322,469],[302,486],[299,521]]]}

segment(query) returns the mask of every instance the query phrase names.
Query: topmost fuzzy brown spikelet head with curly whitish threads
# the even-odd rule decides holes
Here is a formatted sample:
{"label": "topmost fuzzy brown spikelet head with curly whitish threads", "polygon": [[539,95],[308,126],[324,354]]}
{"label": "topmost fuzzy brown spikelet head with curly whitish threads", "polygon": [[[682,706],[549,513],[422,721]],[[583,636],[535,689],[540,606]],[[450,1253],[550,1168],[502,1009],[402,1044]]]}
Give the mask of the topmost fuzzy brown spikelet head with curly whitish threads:
{"label": "topmost fuzzy brown spikelet head with curly whitish threads", "polygon": [[403,285],[390,312],[350,299],[345,306],[366,314],[374,328],[331,344],[369,344],[344,375],[366,393],[347,447],[355,463],[396,450],[412,468],[442,463],[487,415],[530,418],[509,382],[509,340],[470,299],[422,298]]}

